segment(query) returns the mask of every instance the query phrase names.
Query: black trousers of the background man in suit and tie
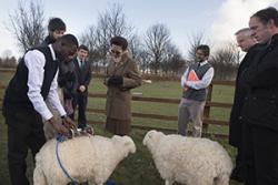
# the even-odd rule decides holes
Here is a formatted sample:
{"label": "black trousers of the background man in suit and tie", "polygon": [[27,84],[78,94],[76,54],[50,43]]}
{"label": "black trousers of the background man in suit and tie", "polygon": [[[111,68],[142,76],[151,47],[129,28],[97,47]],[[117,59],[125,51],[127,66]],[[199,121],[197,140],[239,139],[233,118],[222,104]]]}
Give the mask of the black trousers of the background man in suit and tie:
{"label": "black trousers of the background man in suit and tie", "polygon": [[86,117],[86,109],[88,102],[88,92],[81,93],[78,92],[72,102],[73,113],[70,115],[72,120],[75,120],[75,112],[78,105],[78,127],[85,129],[87,126],[87,117]]}

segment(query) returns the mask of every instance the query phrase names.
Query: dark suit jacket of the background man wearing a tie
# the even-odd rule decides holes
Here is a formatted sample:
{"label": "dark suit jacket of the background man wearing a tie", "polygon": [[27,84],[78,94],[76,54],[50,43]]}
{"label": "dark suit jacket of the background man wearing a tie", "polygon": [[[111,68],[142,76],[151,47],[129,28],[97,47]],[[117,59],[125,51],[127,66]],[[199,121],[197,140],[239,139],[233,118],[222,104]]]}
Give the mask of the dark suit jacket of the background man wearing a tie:
{"label": "dark suit jacket of the background man wearing a tie", "polygon": [[79,92],[79,86],[85,85],[86,91],[85,93],[88,93],[88,86],[91,81],[91,63],[89,61],[85,61],[85,64],[82,68],[79,66],[78,59],[73,59],[73,64],[75,64],[75,72],[77,76],[77,92]]}

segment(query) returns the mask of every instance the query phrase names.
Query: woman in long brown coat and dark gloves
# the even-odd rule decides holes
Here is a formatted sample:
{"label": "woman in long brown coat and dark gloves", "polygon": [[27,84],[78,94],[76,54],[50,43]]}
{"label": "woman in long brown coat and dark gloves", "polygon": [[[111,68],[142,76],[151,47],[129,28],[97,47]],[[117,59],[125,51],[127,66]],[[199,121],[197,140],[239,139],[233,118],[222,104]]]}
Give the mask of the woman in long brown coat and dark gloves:
{"label": "woman in long brown coat and dark gloves", "polygon": [[141,85],[141,75],[136,62],[128,56],[128,42],[125,38],[112,38],[110,45],[111,60],[105,79],[108,86],[106,130],[117,135],[127,135],[131,122],[130,90]]}

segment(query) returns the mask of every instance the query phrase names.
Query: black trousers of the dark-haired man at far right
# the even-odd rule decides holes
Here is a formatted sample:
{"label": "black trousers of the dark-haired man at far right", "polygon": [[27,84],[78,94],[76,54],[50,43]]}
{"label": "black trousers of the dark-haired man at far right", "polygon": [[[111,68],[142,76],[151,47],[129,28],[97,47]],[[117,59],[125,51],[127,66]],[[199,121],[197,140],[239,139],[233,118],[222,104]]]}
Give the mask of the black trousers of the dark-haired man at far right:
{"label": "black trousers of the dark-haired man at far right", "polygon": [[244,124],[245,185],[278,184],[278,131]]}

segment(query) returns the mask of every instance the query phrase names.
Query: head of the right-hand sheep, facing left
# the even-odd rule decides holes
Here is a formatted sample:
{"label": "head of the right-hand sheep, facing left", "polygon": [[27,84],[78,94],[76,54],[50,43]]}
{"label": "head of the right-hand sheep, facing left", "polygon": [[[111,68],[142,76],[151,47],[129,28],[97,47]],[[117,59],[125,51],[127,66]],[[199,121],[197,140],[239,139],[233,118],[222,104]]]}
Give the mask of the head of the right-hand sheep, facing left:
{"label": "head of the right-hand sheep, facing left", "polygon": [[155,150],[162,136],[165,136],[162,132],[151,130],[145,135],[142,144],[147,145],[149,150]]}

